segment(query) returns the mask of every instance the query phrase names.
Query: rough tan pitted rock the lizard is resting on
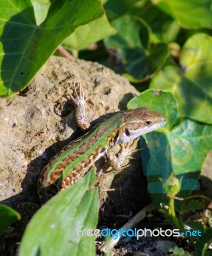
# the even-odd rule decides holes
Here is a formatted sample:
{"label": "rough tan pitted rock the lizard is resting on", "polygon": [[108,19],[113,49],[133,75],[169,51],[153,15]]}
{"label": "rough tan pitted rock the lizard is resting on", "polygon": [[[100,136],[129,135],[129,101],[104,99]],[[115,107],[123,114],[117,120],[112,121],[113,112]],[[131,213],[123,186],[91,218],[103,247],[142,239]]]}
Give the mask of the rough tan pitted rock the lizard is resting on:
{"label": "rough tan pitted rock the lizard is resting on", "polygon": [[[89,122],[105,113],[126,109],[127,102],[138,94],[127,79],[98,63],[52,56],[25,90],[12,100],[0,101],[2,204],[15,207],[20,202],[38,202],[36,187],[43,166],[64,145],[82,135],[73,121],[73,106],[68,97],[73,82],[82,83]],[[110,199],[112,194],[119,196],[115,198],[115,208],[119,202],[125,202],[128,213],[133,207],[140,209],[142,205],[137,202],[145,199],[142,194],[146,186],[140,189],[142,172],[137,154],[139,160],[134,162],[139,168],[121,171],[126,174],[124,179],[117,174],[118,188],[113,175],[108,175],[103,185],[109,188],[113,182],[116,191],[110,193]],[[138,199],[137,191],[142,199]],[[101,195],[103,204],[107,193]]]}

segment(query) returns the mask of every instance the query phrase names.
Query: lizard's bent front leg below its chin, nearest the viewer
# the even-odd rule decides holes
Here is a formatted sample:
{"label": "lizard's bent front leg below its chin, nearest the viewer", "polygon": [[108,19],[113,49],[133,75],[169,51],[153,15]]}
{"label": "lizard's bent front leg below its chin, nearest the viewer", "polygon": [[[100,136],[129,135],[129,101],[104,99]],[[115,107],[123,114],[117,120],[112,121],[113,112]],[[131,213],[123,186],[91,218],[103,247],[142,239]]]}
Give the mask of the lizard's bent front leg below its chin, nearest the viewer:
{"label": "lizard's bent front leg below its chin, nearest the viewer", "polygon": [[126,159],[134,151],[133,148],[139,141],[139,138],[129,141],[128,143],[121,144],[121,150],[119,155],[116,157],[114,154],[111,154],[109,151],[105,154],[107,161],[114,171],[119,171],[123,168]]}

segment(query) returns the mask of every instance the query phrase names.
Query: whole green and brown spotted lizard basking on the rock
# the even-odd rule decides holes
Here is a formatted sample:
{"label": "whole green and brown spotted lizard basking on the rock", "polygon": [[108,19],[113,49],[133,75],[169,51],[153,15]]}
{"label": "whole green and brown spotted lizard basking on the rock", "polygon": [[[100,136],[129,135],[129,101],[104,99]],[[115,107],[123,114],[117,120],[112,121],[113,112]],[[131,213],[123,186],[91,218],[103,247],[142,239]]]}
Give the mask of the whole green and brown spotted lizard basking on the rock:
{"label": "whole green and brown spotted lizard basking on the rock", "polygon": [[[82,87],[73,84],[70,95],[75,106],[75,121],[81,129],[90,125],[85,118],[85,102]],[[96,124],[86,134],[70,142],[50,159],[38,180],[38,196],[45,203],[62,189],[66,189],[83,177],[95,162],[105,156],[114,170],[120,170],[132,148],[129,141],[142,134],[162,127],[166,118],[148,108],[138,108],[113,113],[109,118]],[[122,144],[119,156],[113,156],[110,149]]]}

